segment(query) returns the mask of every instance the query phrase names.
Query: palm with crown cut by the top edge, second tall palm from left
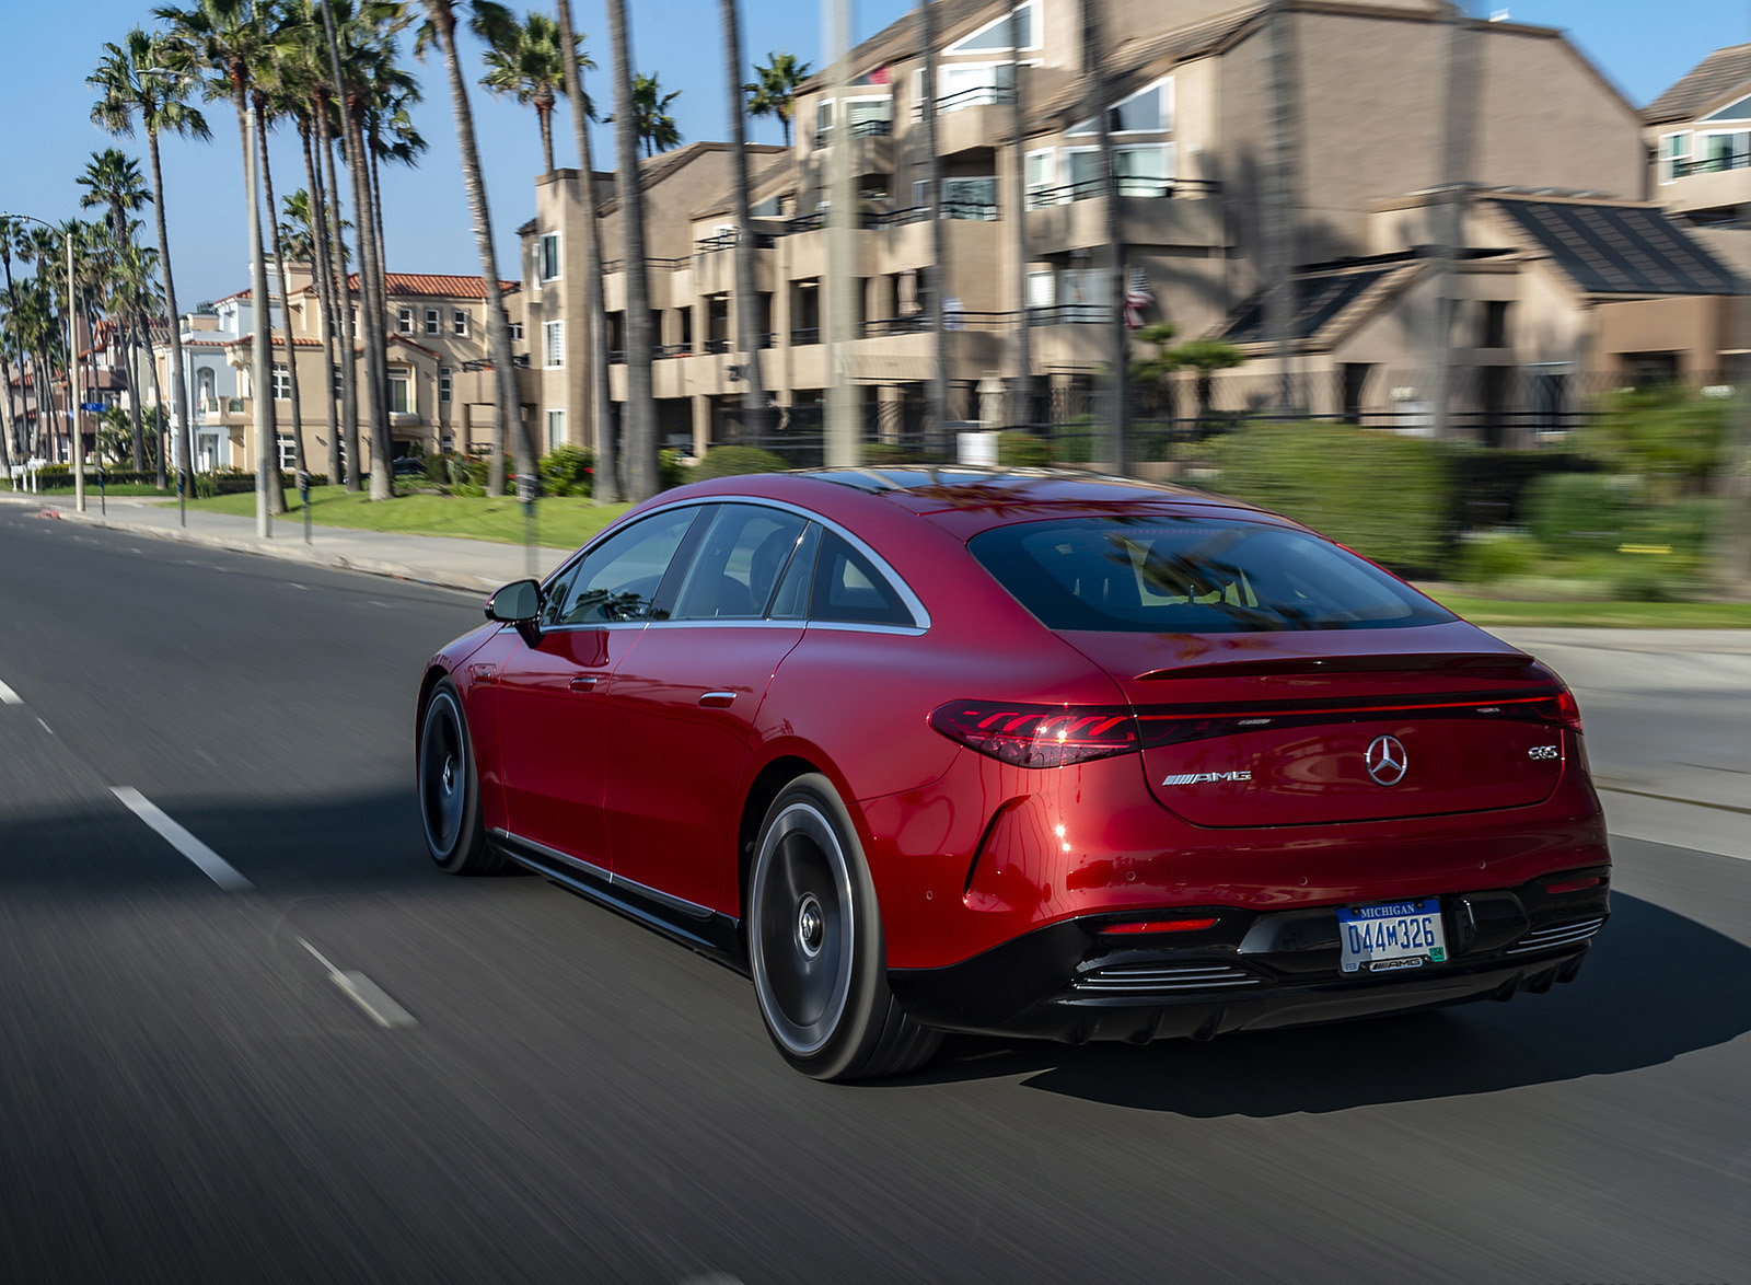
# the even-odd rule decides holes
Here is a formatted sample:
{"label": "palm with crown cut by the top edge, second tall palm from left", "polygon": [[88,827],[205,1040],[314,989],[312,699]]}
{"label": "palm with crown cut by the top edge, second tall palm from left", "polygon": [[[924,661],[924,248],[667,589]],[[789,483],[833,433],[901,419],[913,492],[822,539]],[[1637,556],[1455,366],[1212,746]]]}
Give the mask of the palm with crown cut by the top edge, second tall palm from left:
{"label": "palm with crown cut by the top edge, second tall palm from left", "polygon": [[[254,173],[252,154],[256,133],[261,123],[250,114],[250,82],[257,68],[270,61],[270,44],[273,33],[254,0],[193,0],[189,9],[165,5],[152,11],[152,16],[170,25],[168,40],[177,65],[203,68],[212,75],[207,84],[208,100],[231,98],[236,110],[238,144],[243,152],[245,198],[254,207],[254,193],[249,191]],[[271,215],[271,210],[270,210]],[[250,362],[250,387],[256,397],[256,436],[257,436],[257,488],[266,499],[266,511],[285,511],[285,488],[280,485],[280,469],[271,466],[270,436],[273,434],[273,378],[270,373],[270,327],[271,308],[268,303],[268,273],[261,249],[261,224],[249,221],[250,247],[250,313],[254,317],[254,359]],[[271,222],[271,217],[270,217]]]}

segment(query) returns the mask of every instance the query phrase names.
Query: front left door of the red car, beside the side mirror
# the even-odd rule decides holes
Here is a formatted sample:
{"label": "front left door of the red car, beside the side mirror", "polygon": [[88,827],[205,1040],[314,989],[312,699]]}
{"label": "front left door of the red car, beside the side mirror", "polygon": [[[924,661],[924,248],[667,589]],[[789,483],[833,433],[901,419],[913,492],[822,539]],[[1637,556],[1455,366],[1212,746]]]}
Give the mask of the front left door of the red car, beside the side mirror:
{"label": "front left door of the red car, beside the side mirror", "polygon": [[700,516],[697,506],[641,518],[548,581],[541,639],[499,676],[504,807],[513,839],[611,868],[602,819],[616,667],[650,621],[657,592]]}

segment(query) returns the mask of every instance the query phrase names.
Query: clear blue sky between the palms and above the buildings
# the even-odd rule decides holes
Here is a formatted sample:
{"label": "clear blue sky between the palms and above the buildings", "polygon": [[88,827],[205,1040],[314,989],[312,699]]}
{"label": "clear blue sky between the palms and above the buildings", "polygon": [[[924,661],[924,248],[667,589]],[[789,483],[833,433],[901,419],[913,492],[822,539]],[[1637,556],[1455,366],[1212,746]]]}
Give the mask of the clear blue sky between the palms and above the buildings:
{"label": "clear blue sky between the palms and above the buildings", "polygon": [[[98,65],[103,42],[145,23],[151,0],[72,0],[65,5],[7,5],[7,70],[0,77],[0,210],[63,219],[77,210],[74,177],[109,138],[89,123],[91,93],[84,77]],[[513,7],[520,7],[513,4]],[[909,9],[909,0],[863,0],[856,5],[856,37],[863,39]],[[1593,63],[1642,105],[1698,63],[1711,49],[1751,39],[1746,0],[1677,0],[1653,9],[1630,0],[1476,0],[1474,11],[1508,7],[1515,21],[1565,28]],[[790,49],[819,61],[819,5],[788,0],[742,0],[744,51],[749,60]],[[574,0],[585,46],[609,65],[608,26],[601,0]],[[657,70],[676,100],[676,121],[688,140],[721,138],[727,130],[716,0],[632,0],[634,61]],[[1672,21],[1677,14],[1683,21]],[[478,65],[478,47],[464,49]],[[441,68],[415,70],[427,98],[418,128],[431,142],[418,170],[385,172],[389,266],[396,271],[478,271],[455,133]],[[599,74],[601,75],[601,74]],[[606,77],[592,88],[606,102]],[[476,124],[487,168],[501,275],[517,275],[515,228],[534,208],[532,179],[541,170],[541,144],[531,109],[476,93]],[[243,184],[236,121],[226,105],[208,114],[214,142],[166,140],[165,182],[172,219],[177,294],[184,310],[200,299],[242,289],[249,280],[242,231]],[[777,142],[777,126],[755,126],[756,142]],[[144,156],[144,140],[117,145]],[[609,159],[611,131],[594,135],[599,163]],[[574,165],[571,124],[559,119],[555,152]],[[275,187],[303,186],[296,137],[275,144]]]}

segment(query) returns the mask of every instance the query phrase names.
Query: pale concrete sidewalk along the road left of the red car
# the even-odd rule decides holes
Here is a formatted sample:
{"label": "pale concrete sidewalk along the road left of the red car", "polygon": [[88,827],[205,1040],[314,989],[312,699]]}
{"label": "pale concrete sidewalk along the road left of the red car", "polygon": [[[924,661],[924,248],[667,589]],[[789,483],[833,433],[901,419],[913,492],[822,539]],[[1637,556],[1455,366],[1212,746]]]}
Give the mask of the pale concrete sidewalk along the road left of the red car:
{"label": "pale concrete sidewalk along the road left of the red car", "polygon": [[261,539],[256,534],[254,518],[191,509],[187,527],[182,527],[173,502],[165,504],[138,495],[112,497],[107,516],[98,511],[98,497],[91,492],[86,494],[84,513],[74,509],[70,495],[0,494],[0,504],[53,509],[67,522],[126,530],[135,536],[180,539],[233,553],[259,553],[312,567],[364,571],[373,576],[417,579],[424,585],[480,593],[490,593],[524,576],[545,576],[567,555],[567,550],[536,548],[531,564],[529,550],[522,544],[496,544],[485,539],[448,536],[399,536],[352,527],[312,527],[312,543],[305,544],[305,525],[298,518],[275,518],[273,537]]}

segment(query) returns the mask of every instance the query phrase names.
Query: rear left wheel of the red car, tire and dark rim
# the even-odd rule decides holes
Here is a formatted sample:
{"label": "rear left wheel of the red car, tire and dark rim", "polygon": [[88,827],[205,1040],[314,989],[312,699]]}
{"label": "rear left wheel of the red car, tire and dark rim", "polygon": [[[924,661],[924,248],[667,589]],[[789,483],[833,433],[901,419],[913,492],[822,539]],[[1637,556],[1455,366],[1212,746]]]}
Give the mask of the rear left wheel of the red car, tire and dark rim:
{"label": "rear left wheel of the red car, tire and dark rim", "polygon": [[902,1075],[942,1043],[888,991],[881,909],[846,805],[825,776],[772,800],[748,879],[748,959],[779,1056],[816,1080]]}

